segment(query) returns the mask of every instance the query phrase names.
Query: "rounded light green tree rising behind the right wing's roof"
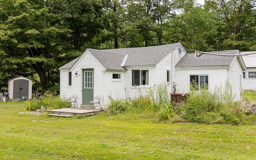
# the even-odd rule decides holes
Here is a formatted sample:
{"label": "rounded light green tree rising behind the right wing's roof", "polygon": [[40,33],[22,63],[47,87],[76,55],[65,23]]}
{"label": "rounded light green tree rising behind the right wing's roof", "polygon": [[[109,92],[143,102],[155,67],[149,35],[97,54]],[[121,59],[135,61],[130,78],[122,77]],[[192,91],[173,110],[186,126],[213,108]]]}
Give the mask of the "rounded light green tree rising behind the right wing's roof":
{"label": "rounded light green tree rising behind the right wing's roof", "polygon": [[182,42],[186,48],[193,49],[189,52],[221,50],[227,35],[224,25],[216,14],[194,7],[168,21],[164,38],[170,43]]}

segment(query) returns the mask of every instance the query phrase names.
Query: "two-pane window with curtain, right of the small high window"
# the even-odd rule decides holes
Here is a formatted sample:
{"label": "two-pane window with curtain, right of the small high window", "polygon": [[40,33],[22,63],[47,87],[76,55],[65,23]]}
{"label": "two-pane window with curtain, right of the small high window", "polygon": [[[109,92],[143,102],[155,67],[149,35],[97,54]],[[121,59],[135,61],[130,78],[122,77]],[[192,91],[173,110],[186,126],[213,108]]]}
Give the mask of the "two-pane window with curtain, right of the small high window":
{"label": "two-pane window with curtain, right of the small high window", "polygon": [[148,70],[132,70],[132,86],[148,85]]}

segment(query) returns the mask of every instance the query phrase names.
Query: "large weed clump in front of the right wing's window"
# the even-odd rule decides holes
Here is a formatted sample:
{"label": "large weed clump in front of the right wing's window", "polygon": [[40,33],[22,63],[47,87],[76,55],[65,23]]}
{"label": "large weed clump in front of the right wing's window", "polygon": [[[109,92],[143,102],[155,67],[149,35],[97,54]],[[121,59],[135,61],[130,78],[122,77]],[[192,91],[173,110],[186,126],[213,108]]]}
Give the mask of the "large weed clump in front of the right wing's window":
{"label": "large weed clump in front of the right wing's window", "polygon": [[208,87],[200,88],[200,91],[196,91],[197,88],[190,86],[183,112],[178,112],[188,122],[240,124],[254,119],[247,118],[242,110],[238,110],[241,102],[234,102],[235,95],[228,79],[224,85],[215,86],[213,92]]}

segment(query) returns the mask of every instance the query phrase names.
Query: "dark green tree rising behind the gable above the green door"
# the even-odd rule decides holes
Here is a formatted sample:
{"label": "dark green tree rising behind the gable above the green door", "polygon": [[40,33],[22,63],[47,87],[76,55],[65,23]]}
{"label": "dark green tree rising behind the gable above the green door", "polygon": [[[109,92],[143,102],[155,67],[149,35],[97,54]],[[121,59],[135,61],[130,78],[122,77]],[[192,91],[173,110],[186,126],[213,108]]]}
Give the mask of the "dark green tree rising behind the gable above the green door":
{"label": "dark green tree rising behind the gable above the green door", "polygon": [[60,23],[71,30],[64,39],[70,45],[69,50],[81,51],[94,45],[92,39],[103,28],[102,0],[48,0],[48,6]]}

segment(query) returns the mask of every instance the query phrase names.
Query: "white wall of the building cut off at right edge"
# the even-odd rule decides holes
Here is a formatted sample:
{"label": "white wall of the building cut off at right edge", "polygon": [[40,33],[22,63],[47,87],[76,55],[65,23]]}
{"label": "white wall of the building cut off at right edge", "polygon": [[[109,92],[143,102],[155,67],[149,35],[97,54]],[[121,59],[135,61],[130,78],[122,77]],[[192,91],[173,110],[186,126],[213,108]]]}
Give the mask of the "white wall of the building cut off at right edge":
{"label": "white wall of the building cut off at right edge", "polygon": [[256,67],[246,68],[246,79],[242,80],[243,90],[256,90],[256,79],[249,79],[248,72],[256,72]]}

